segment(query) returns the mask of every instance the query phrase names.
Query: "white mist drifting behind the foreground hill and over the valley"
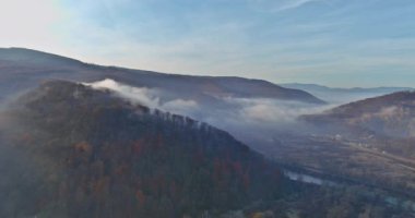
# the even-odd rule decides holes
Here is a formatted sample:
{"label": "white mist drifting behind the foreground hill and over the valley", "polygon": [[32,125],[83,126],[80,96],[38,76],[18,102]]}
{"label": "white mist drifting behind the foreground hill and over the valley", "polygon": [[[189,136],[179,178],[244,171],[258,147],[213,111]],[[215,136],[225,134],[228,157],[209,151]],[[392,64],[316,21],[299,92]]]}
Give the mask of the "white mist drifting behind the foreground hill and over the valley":
{"label": "white mist drifting behind the foreground hill and over the valley", "polygon": [[336,106],[208,94],[216,99],[220,104],[217,106],[203,99],[171,99],[168,97],[169,93],[162,88],[134,87],[111,78],[84,84],[96,89],[109,89],[112,95],[132,104],[209,123],[228,131],[238,140],[265,154],[266,147],[276,144],[275,138],[281,134],[309,135],[321,132],[298,118],[304,114],[320,113]]}

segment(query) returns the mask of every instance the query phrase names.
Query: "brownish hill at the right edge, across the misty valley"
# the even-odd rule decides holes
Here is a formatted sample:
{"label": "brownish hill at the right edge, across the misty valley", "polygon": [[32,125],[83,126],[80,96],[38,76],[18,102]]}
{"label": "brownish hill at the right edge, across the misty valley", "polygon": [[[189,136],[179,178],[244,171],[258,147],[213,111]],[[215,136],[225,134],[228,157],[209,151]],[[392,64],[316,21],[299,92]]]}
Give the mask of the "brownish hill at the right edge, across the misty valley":
{"label": "brownish hill at the right edge, across the misty valley", "polygon": [[415,93],[400,92],[351,102],[304,119],[315,124],[364,130],[378,135],[414,137],[414,116]]}

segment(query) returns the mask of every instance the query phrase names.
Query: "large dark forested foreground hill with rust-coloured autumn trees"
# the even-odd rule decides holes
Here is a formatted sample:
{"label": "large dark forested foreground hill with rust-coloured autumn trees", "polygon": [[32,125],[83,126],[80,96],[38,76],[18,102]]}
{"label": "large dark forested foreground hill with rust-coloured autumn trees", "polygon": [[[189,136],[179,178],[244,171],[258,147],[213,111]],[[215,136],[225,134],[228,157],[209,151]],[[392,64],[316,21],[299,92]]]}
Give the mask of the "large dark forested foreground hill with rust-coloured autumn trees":
{"label": "large dark forested foreground hill with rust-coloured autumn trees", "polygon": [[54,81],[10,107],[1,217],[214,216],[283,195],[280,169],[226,132],[108,90]]}

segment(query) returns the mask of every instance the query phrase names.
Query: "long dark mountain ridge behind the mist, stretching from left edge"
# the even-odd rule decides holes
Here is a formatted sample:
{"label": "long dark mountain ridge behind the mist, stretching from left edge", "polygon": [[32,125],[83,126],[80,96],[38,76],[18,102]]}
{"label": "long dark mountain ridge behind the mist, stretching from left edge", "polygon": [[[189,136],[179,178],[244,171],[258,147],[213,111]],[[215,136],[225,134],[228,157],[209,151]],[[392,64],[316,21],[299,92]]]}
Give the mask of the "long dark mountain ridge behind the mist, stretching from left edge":
{"label": "long dark mountain ridge behind the mist, stretching from left edge", "polygon": [[[22,61],[22,59],[25,61]],[[57,59],[59,61],[56,62]],[[310,104],[324,104],[321,99],[304,90],[284,88],[264,80],[238,76],[166,74],[119,66],[102,66],[24,48],[0,49],[0,73],[5,74],[0,74],[0,76],[4,77],[4,83],[8,83],[5,81],[8,77],[11,77],[8,76],[8,72],[14,72],[14,76],[20,76],[20,81],[16,82],[17,84],[24,83],[22,86],[29,87],[34,87],[34,84],[45,78],[94,82],[110,77],[134,86],[163,87],[171,84],[175,87],[170,87],[169,92],[174,92],[180,87],[181,89],[186,89],[187,93],[197,92],[199,95],[202,95],[203,92],[209,92],[209,89],[203,89],[203,85],[206,85],[212,86],[212,88],[216,90],[235,95],[236,97],[270,97],[282,100],[289,99]],[[44,75],[33,75],[35,72]],[[36,83],[33,83],[33,81],[36,81]],[[176,83],[176,85],[174,83]],[[236,83],[236,85],[229,86],[226,83]],[[242,83],[244,86],[237,83]],[[12,92],[15,92],[15,88],[12,89]]]}

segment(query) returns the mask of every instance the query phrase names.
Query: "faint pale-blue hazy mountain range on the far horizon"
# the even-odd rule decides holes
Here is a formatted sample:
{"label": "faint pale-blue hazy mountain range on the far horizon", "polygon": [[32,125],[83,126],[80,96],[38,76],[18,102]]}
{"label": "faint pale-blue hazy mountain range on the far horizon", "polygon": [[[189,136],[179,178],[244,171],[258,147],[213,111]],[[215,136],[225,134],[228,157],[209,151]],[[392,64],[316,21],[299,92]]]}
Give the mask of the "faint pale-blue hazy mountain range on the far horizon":
{"label": "faint pale-blue hazy mountain range on the far horizon", "polygon": [[296,88],[308,92],[332,104],[346,104],[351,101],[361,100],[365,98],[371,98],[382,96],[391,93],[402,90],[413,90],[411,87],[375,87],[375,88],[333,88],[316,84],[301,84],[301,83],[288,83],[280,84],[286,88]]}

